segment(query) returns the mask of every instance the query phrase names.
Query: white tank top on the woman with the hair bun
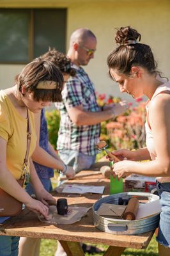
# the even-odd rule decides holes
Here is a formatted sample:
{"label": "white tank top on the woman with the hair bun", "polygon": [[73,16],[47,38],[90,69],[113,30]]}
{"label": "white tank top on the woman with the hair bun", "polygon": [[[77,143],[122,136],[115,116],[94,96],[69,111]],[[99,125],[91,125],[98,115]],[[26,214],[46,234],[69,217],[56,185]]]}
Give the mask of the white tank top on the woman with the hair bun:
{"label": "white tank top on the woman with the hair bun", "polygon": [[[167,82],[165,79],[162,79],[161,77],[157,76],[157,80],[161,81],[163,84],[161,84],[160,86],[158,86],[157,90],[155,90],[155,93],[153,93],[153,96],[151,97],[151,100],[153,100],[154,97],[156,97],[158,94],[162,93],[162,92],[167,92],[169,91],[170,93],[170,83]],[[146,123],[145,123],[145,131],[146,131],[146,147],[148,148],[148,151],[150,152],[150,156],[151,156],[151,160],[154,160],[157,158],[157,154],[155,152],[155,148],[153,145],[153,135],[151,132],[151,128],[150,128],[150,122],[149,122],[149,116],[148,116],[148,104],[151,102],[151,100],[148,100],[146,102],[146,112],[147,112],[147,116],[146,116]],[[159,182],[170,182],[170,177],[157,177],[157,180]]]}

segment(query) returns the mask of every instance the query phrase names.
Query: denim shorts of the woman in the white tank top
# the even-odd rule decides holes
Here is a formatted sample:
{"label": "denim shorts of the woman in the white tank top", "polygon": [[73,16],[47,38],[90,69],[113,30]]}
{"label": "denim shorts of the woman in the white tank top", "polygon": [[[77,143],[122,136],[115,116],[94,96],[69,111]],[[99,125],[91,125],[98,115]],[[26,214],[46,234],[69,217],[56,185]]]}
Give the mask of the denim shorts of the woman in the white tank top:
{"label": "denim shorts of the woman in the white tank top", "polygon": [[157,181],[158,195],[160,196],[160,222],[158,227],[157,242],[170,248],[170,182]]}

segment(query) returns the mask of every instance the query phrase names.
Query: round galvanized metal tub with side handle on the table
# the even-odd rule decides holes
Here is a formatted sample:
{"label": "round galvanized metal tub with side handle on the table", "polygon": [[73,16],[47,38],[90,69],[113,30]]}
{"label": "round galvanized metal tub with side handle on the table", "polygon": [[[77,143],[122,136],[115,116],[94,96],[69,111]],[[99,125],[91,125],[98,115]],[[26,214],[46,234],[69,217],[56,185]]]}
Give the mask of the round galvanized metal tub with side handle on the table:
{"label": "round galvanized metal tub with side handle on the table", "polygon": [[159,196],[153,195],[150,193],[142,193],[142,192],[126,192],[126,193],[118,193],[110,196],[105,196],[104,198],[99,199],[93,205],[93,223],[95,227],[98,229],[118,235],[137,235],[145,232],[149,232],[151,230],[155,230],[158,227],[159,223],[159,214],[155,214],[148,218],[144,218],[141,220],[118,220],[113,218],[105,218],[97,214],[97,210],[103,203],[105,204],[118,204],[118,198],[131,198],[132,196],[147,196],[148,201],[157,200]]}

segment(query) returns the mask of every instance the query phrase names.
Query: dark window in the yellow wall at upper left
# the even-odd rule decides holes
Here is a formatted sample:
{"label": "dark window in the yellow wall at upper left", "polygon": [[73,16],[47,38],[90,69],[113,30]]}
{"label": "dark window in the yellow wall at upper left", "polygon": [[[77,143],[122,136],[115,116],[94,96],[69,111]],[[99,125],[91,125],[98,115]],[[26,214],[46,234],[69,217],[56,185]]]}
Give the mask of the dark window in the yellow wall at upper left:
{"label": "dark window in the yellow wall at upper left", "polygon": [[27,63],[50,47],[65,52],[66,9],[0,9],[0,63]]}

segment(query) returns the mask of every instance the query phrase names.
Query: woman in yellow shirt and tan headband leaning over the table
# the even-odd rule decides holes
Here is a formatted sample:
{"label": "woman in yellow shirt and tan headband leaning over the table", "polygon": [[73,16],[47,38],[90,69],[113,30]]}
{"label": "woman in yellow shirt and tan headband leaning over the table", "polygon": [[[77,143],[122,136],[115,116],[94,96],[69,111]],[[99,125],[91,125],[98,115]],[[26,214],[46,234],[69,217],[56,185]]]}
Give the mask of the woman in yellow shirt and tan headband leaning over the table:
{"label": "woman in yellow shirt and tan headband leaning over the table", "polygon": [[[36,145],[33,113],[38,113],[49,102],[62,100],[63,76],[51,61],[37,58],[27,64],[15,77],[15,86],[0,91],[0,188],[37,213],[48,215],[47,200],[52,196],[43,188],[29,158],[31,184],[37,200],[20,187],[27,148],[27,115],[31,122],[29,157]],[[4,218],[0,218],[2,223]],[[18,255],[19,237],[0,236],[0,255]]]}

